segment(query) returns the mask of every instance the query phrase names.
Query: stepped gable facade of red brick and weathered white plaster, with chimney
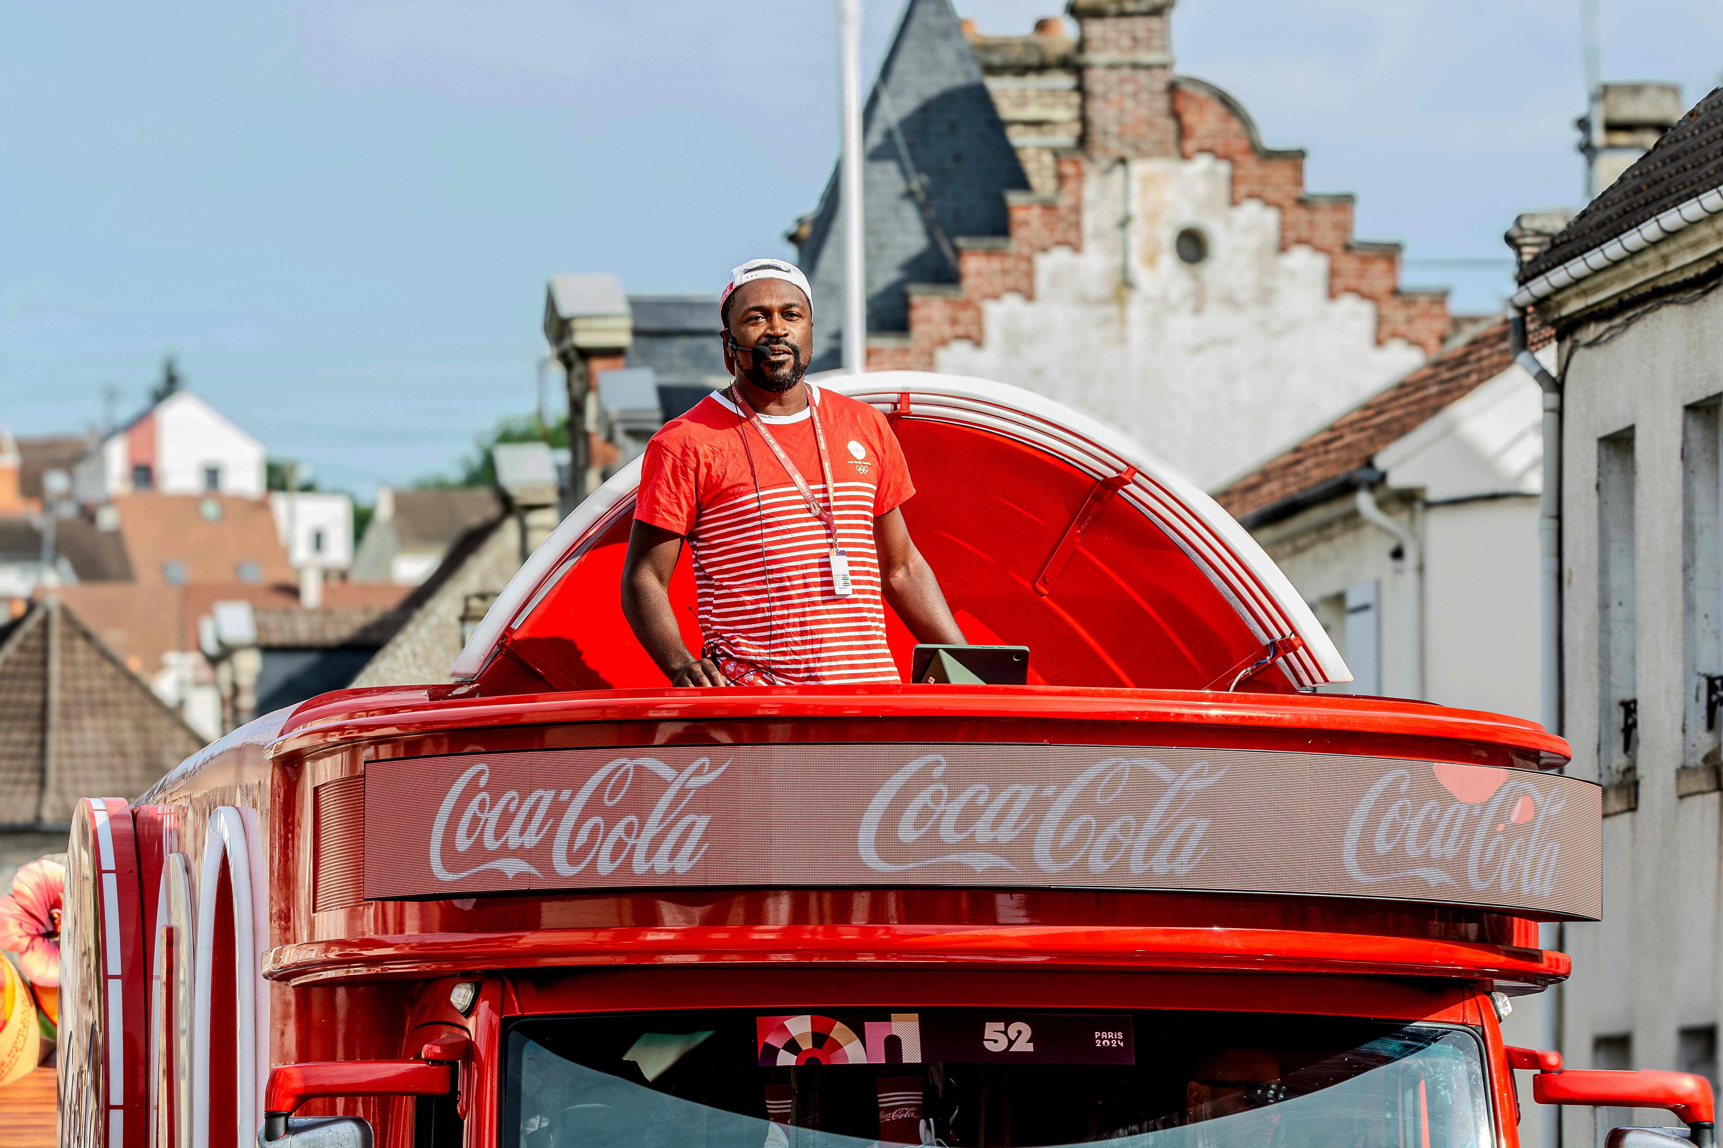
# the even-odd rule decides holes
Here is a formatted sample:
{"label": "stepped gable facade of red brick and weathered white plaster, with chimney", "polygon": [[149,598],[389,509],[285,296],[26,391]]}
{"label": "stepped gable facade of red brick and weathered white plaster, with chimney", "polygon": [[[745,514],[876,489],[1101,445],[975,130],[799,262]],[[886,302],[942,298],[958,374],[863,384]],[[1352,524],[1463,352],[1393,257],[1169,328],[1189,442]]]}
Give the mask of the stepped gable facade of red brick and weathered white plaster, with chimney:
{"label": "stepped gable facade of red brick and weathered white plaster, with chimney", "polygon": [[1048,394],[1215,487],[1439,353],[1451,317],[1399,289],[1397,244],[1353,238],[1353,196],[1304,189],[1303,151],[1173,76],[1172,9],[1072,0],[1077,41],[963,28],[1029,188],[999,193],[1005,234],[951,236],[955,275],[903,286],[867,361]]}

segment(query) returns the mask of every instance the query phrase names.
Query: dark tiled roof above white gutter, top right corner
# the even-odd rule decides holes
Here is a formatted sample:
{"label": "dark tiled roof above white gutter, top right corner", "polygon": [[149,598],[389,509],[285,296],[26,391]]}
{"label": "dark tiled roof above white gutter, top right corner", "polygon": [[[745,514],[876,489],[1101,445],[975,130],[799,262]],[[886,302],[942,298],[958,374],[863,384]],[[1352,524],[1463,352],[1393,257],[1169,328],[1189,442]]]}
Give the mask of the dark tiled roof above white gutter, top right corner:
{"label": "dark tiled roof above white gutter, top right corner", "polygon": [[1537,258],[1520,268],[1530,282],[1671,207],[1723,186],[1723,88],[1695,103],[1651,151],[1585,205]]}

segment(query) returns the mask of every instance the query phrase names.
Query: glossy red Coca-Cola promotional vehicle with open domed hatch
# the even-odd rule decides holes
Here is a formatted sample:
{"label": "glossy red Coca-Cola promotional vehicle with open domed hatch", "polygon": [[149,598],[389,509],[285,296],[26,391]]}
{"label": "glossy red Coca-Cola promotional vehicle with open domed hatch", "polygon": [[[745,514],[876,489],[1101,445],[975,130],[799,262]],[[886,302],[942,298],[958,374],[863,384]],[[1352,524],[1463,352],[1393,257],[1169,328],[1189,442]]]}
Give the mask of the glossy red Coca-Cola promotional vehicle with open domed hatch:
{"label": "glossy red Coca-Cola promotional vehicle with open domed hatch", "polygon": [[667,688],[625,470],[455,685],[83,802],[62,1143],[1511,1148],[1535,1100],[1709,1148],[1701,1077],[1502,1043],[1568,974],[1537,923],[1602,912],[1561,738],[1316,692],[1349,673],[1273,563],[1073,411],[829,386],[893,420],[917,544],[1027,685]]}

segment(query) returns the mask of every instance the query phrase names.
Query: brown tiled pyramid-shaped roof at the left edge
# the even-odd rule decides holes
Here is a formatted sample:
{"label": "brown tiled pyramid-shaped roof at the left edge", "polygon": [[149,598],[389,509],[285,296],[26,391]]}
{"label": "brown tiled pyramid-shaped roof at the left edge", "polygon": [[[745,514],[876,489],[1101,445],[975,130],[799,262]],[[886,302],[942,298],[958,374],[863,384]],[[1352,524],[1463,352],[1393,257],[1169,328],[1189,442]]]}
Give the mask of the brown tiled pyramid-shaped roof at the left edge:
{"label": "brown tiled pyramid-shaped roof at the left edge", "polygon": [[60,601],[0,628],[0,826],[60,826],[79,797],[136,797],[202,744]]}

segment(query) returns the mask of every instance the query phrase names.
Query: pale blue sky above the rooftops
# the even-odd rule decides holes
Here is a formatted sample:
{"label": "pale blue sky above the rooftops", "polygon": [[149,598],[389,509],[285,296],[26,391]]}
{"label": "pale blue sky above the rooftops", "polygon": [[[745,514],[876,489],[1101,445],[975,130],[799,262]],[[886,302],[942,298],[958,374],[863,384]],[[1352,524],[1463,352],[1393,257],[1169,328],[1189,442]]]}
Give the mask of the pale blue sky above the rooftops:
{"label": "pale blue sky above the rooftops", "polygon": [[[955,0],[989,34],[1060,0]],[[1179,0],[1311,191],[1456,312],[1582,201],[1583,0]],[[1723,5],[1602,0],[1604,79],[1720,83]],[[877,67],[901,0],[865,0]],[[0,425],[193,391],[369,501],[536,406],[551,274],[715,293],[793,255],[837,148],[834,0],[0,0]],[[762,146],[765,145],[765,146]]]}

